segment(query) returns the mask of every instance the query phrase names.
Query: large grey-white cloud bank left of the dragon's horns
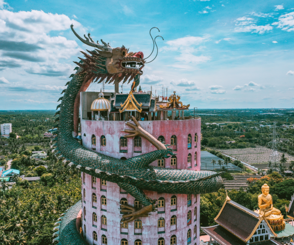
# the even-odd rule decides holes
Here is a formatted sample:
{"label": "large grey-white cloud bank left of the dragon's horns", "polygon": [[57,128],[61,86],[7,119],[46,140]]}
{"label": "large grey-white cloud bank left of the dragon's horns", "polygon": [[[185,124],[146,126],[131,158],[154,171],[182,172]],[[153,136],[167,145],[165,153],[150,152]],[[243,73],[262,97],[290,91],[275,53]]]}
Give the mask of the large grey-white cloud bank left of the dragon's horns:
{"label": "large grey-white cloud bank left of the dragon's horns", "polygon": [[[31,72],[33,70],[51,71],[53,76],[69,73],[67,69],[72,69],[73,65],[60,64],[59,60],[76,55],[79,51],[78,45],[73,40],[54,36],[50,31],[67,30],[72,23],[81,29],[77,21],[63,14],[37,10],[0,10],[1,70],[19,70],[19,67],[23,67],[28,73],[39,73]],[[45,75],[50,75],[50,72],[46,72]]]}

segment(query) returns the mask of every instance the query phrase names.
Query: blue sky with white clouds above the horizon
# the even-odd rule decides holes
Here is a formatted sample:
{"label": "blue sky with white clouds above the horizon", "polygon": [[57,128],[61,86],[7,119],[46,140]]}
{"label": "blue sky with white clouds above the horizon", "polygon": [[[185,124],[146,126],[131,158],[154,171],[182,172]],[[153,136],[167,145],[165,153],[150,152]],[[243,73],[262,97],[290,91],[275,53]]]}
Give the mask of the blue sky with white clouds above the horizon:
{"label": "blue sky with white clouds above the horizon", "polygon": [[73,61],[89,49],[72,23],[145,57],[158,27],[164,41],[140,83],[153,94],[168,88],[191,108],[293,107],[293,1],[0,0],[0,110],[56,108]]}

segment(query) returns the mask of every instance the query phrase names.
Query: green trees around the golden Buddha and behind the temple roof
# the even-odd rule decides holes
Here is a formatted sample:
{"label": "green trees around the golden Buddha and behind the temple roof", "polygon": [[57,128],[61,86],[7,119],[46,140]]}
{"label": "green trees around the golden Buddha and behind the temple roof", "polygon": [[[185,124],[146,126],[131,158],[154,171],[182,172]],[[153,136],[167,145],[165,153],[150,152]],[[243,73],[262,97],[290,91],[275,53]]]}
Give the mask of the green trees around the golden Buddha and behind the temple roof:
{"label": "green trees around the golden Buddha and behind the temple roof", "polygon": [[[249,178],[247,192],[228,191],[228,196],[235,202],[245,206],[250,210],[258,208],[257,197],[261,194],[263,184],[270,186],[270,195],[272,196],[273,206],[279,209],[286,217],[285,204],[289,206],[291,196],[294,194],[294,179],[283,178],[279,173],[273,172],[260,179]],[[226,193],[224,189],[216,193],[204,194],[200,197],[200,225],[215,225],[214,218],[218,215],[225,201]]]}

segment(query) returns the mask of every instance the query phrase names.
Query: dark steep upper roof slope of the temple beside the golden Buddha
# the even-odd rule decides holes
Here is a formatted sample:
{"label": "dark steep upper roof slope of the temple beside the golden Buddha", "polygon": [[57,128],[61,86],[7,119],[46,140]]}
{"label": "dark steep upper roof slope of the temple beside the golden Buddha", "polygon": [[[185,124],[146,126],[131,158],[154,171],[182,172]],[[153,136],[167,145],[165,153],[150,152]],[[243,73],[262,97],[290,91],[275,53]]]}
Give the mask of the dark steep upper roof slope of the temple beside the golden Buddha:
{"label": "dark steep upper roof slope of the temple beside the golden Buddha", "polygon": [[259,219],[255,215],[248,213],[247,209],[242,205],[236,207],[235,202],[226,202],[215,221],[245,241],[254,230]]}

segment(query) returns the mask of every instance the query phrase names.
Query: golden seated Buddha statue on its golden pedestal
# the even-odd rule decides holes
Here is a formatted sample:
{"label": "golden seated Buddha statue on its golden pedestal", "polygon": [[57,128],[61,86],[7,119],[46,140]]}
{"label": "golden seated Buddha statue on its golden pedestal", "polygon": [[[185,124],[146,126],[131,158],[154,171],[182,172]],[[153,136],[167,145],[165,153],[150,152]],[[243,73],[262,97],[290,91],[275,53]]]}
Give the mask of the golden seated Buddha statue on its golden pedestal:
{"label": "golden seated Buddha statue on its golden pedestal", "polygon": [[265,216],[266,220],[270,223],[273,231],[281,231],[285,229],[285,221],[281,211],[274,208],[272,204],[272,197],[269,194],[270,187],[264,184],[261,187],[262,194],[258,196],[259,210],[254,211],[259,216]]}

